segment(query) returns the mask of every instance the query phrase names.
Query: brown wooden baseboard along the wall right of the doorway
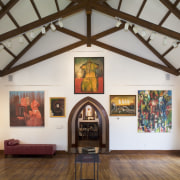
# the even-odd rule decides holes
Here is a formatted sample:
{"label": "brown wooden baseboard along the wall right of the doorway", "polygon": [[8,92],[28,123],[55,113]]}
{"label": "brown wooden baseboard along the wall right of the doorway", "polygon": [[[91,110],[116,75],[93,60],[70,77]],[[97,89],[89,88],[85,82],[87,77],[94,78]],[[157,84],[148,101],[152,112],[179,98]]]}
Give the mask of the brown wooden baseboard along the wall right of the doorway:
{"label": "brown wooden baseboard along the wall right of the doorway", "polygon": [[110,154],[178,154],[180,150],[112,150]]}

